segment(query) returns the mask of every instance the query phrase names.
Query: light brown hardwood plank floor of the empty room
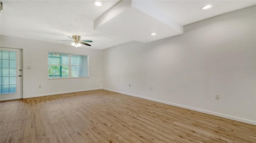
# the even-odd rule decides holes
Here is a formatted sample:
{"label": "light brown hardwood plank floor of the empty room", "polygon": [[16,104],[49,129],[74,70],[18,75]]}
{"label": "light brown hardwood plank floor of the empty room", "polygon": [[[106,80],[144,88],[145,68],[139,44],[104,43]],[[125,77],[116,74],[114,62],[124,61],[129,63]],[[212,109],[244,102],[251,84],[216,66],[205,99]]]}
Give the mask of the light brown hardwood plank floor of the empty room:
{"label": "light brown hardwood plank floor of the empty room", "polygon": [[107,90],[0,102],[1,143],[255,143],[256,126]]}

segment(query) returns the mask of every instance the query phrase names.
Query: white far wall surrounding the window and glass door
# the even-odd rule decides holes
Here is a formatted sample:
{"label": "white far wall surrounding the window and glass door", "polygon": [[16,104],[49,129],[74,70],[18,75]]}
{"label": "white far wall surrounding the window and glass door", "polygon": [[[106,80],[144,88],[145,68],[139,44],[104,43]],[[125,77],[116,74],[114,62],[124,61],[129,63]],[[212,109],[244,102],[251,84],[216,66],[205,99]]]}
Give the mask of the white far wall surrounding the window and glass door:
{"label": "white far wall surrounding the window and glass door", "polygon": [[[1,47],[23,49],[23,98],[102,88],[102,50],[4,35],[1,35]],[[89,55],[89,78],[48,80],[48,51]],[[26,69],[27,66],[32,69]]]}

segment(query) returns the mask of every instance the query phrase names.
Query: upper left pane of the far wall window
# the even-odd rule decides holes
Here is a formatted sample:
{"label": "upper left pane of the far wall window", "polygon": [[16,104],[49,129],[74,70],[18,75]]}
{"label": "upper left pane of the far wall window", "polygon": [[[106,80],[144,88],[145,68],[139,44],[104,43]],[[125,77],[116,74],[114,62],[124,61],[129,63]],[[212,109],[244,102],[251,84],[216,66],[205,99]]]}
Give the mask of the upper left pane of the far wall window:
{"label": "upper left pane of the far wall window", "polygon": [[69,65],[69,54],[48,52],[48,65]]}

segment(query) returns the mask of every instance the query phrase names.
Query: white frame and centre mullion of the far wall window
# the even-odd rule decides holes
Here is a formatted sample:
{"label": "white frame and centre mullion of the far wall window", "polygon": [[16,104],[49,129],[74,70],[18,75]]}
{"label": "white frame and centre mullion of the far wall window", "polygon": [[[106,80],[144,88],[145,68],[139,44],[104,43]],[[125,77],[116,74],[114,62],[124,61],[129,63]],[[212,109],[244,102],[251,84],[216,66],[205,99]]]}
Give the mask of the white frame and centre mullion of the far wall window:
{"label": "white frame and centre mullion of the far wall window", "polygon": [[[58,78],[49,78],[49,52],[52,52],[52,53],[62,53],[62,54],[68,54],[68,76],[69,77],[58,77]],[[80,77],[72,77],[71,74],[72,74],[72,65],[71,65],[71,55],[80,55],[80,56],[87,56],[87,67],[88,67],[88,75],[87,77],[84,77],[84,76],[80,76]],[[74,54],[74,53],[63,53],[63,52],[54,52],[54,51],[48,51],[47,52],[47,78],[48,80],[52,80],[52,79],[74,79],[74,78],[89,78],[89,55],[82,55],[82,54]],[[61,66],[61,65],[60,65]],[[80,66],[80,67],[83,67],[83,66]]]}

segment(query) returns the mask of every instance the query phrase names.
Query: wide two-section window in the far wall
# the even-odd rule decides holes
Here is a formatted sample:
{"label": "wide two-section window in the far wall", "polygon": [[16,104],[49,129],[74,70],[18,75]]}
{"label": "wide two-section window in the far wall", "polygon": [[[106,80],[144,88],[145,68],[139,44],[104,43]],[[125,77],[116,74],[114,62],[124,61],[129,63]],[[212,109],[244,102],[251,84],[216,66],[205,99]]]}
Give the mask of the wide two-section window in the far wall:
{"label": "wide two-section window in the far wall", "polygon": [[88,55],[48,52],[48,78],[88,77]]}

